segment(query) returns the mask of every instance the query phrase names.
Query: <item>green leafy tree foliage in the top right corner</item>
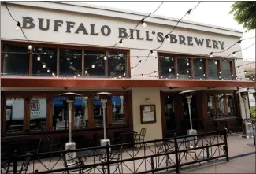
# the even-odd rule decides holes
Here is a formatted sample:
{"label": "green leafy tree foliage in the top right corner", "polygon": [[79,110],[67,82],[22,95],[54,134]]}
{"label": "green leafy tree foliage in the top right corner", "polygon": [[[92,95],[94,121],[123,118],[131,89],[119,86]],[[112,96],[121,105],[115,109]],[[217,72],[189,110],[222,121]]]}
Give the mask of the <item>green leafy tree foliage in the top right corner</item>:
{"label": "green leafy tree foliage in the top right corner", "polygon": [[238,24],[243,24],[243,29],[246,31],[256,28],[256,2],[235,2],[232,5],[232,10],[229,13],[234,13],[234,19]]}

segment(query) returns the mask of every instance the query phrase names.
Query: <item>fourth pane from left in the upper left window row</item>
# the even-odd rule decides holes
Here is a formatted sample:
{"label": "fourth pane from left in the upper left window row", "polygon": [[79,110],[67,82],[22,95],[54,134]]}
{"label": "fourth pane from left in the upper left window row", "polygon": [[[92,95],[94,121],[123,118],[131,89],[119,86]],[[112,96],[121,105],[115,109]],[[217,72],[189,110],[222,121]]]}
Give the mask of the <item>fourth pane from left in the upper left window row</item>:
{"label": "fourth pane from left in the upper left window row", "polygon": [[85,76],[105,76],[105,51],[84,50]]}

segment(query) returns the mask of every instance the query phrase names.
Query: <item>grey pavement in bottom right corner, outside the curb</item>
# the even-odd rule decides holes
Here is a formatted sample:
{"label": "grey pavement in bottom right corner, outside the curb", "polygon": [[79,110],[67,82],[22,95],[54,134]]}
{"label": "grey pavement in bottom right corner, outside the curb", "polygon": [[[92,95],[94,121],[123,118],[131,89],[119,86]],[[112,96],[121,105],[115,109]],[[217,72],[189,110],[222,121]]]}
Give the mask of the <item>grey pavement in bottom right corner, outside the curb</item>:
{"label": "grey pavement in bottom right corner, outside the curb", "polygon": [[255,173],[255,154],[238,157],[199,168],[180,170],[180,173]]}

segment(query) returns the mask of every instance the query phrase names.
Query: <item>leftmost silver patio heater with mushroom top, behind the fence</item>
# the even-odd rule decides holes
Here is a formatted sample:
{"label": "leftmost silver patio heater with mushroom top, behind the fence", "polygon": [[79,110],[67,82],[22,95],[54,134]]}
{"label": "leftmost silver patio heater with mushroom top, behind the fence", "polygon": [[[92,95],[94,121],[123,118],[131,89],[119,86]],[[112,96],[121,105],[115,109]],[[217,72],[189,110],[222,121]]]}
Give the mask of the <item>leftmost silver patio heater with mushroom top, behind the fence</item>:
{"label": "leftmost silver patio heater with mushroom top, behind the fence", "polygon": [[[80,94],[67,92],[64,94],[59,94],[59,96],[65,97],[66,102],[69,105],[69,142],[65,143],[65,150],[76,150],[76,142],[72,142],[72,103],[75,102],[76,96],[80,96]],[[76,161],[72,159],[76,158],[76,152],[66,153],[65,158],[67,161],[67,165],[75,164]]]}

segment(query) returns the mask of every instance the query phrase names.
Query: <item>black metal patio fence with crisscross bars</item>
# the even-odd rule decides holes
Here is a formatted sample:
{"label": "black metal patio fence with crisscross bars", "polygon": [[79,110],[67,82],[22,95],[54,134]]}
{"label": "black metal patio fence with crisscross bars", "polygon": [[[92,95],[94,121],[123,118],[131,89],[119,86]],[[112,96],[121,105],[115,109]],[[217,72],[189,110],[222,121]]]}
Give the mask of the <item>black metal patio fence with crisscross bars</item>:
{"label": "black metal patio fence with crisscross bars", "polygon": [[2,157],[2,173],[155,173],[204,163],[228,161],[227,131],[174,136],[140,143]]}

